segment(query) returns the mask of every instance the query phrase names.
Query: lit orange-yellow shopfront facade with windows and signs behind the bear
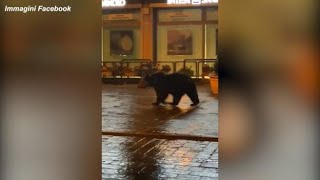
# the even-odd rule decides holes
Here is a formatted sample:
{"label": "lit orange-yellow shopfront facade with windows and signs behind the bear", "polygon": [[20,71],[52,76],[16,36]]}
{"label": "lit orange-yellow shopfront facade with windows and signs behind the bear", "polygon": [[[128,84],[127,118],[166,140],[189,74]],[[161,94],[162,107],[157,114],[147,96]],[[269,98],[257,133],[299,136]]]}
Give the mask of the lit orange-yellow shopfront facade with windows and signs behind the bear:
{"label": "lit orange-yellow shopfront facade with windows and signs behind the bear", "polygon": [[[171,62],[216,59],[218,5],[214,0],[104,0],[102,61]],[[196,71],[196,64],[189,63]]]}

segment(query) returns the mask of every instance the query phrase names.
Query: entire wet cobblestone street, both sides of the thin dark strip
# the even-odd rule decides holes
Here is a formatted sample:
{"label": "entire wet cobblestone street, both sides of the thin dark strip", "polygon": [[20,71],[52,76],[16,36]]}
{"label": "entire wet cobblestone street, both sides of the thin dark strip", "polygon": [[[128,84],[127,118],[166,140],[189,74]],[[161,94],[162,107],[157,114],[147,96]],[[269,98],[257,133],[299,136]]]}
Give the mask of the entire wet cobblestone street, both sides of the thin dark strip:
{"label": "entire wet cobblestone street, both sides of the thin dark strip", "polygon": [[187,96],[155,107],[152,88],[103,85],[102,178],[218,179],[218,100],[197,88],[197,107]]}

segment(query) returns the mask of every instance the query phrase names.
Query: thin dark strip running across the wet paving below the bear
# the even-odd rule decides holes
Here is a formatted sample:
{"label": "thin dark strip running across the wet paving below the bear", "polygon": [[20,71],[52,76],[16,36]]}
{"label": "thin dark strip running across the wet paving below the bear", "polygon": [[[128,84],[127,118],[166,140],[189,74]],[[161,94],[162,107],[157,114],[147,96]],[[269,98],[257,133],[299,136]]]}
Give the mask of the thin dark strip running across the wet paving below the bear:
{"label": "thin dark strip running across the wet paving below the bear", "polygon": [[197,136],[189,134],[162,134],[162,133],[134,133],[134,132],[102,132],[102,135],[108,136],[134,136],[134,137],[150,137],[157,139],[168,139],[168,140],[192,140],[192,141],[210,141],[219,142],[218,137],[209,136]]}

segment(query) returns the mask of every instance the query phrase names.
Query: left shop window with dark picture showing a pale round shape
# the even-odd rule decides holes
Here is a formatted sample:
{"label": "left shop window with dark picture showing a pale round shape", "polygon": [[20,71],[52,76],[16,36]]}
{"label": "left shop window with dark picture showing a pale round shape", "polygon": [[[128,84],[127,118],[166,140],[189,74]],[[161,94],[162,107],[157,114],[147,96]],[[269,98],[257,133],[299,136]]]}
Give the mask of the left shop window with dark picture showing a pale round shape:
{"label": "left shop window with dark picture showing a pale round shape", "polygon": [[140,11],[108,11],[102,16],[103,61],[140,57]]}

